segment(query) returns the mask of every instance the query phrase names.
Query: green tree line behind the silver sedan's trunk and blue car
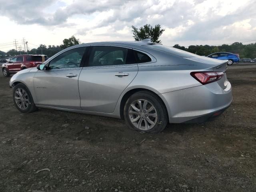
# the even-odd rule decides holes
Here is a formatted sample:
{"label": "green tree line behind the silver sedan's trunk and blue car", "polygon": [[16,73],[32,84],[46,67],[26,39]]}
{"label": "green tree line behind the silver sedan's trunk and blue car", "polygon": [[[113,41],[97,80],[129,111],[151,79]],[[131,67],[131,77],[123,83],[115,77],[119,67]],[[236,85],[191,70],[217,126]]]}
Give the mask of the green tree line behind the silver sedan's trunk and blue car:
{"label": "green tree line behind the silver sedan's trunk and blue car", "polygon": [[190,45],[188,48],[175,44],[174,48],[185,50],[200,56],[208,56],[215,52],[230,52],[239,54],[240,58],[256,58],[256,43],[242,44],[240,42],[234,42],[233,44],[223,44],[220,46],[209,46],[209,45]]}

